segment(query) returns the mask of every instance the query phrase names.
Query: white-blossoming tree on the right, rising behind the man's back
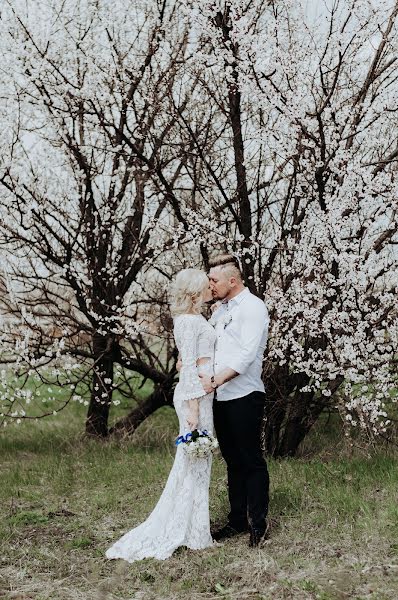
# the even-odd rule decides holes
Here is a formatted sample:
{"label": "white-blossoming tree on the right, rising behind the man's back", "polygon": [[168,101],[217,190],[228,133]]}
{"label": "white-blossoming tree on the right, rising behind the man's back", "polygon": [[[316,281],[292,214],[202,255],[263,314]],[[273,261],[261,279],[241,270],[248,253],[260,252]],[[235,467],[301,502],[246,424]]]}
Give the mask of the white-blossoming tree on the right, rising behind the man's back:
{"label": "white-blossoming tree on the right, rising behind the man's back", "polygon": [[[397,2],[188,5],[202,72],[202,237],[271,310],[266,447],[321,412],[390,423],[397,356]],[[208,143],[211,140],[211,144]]]}

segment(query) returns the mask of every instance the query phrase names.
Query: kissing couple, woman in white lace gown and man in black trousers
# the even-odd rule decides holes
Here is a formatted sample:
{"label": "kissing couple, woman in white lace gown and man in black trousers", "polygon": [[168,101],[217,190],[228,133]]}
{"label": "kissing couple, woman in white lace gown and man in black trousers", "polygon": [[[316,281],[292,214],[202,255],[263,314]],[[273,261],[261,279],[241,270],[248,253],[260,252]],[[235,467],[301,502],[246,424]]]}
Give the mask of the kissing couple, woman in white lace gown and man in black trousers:
{"label": "kissing couple, woman in white lace gown and man in black trousers", "polygon": [[[212,299],[207,321],[202,308]],[[174,464],[148,519],[115,542],[107,558],[166,559],[180,546],[200,550],[244,532],[249,545],[258,547],[267,534],[269,476],[261,446],[266,306],[245,287],[235,257],[223,254],[210,261],[208,275],[198,269],[177,274],[170,308],[180,357]],[[188,452],[193,441],[214,442],[213,419],[230,502],[228,522],[215,532],[209,517],[211,452]]]}

